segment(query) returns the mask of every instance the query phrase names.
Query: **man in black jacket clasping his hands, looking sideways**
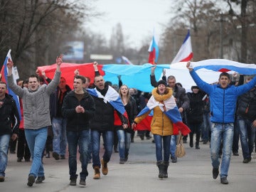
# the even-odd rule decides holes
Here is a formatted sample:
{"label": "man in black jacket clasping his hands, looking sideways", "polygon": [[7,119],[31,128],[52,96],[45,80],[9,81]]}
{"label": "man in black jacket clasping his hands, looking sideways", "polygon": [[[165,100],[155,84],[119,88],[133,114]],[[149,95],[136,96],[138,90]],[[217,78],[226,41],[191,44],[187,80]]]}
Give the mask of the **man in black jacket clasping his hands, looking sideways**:
{"label": "man in black jacket clasping his hands, looking sideways", "polygon": [[95,102],[92,96],[83,89],[85,77],[77,75],[74,78],[74,90],[65,96],[63,101],[63,117],[67,118],[66,133],[68,139],[68,165],[70,186],[76,185],[77,151],[79,146],[82,171],[80,172],[80,185],[85,186],[88,176],[87,159],[90,144],[89,122],[95,115]]}

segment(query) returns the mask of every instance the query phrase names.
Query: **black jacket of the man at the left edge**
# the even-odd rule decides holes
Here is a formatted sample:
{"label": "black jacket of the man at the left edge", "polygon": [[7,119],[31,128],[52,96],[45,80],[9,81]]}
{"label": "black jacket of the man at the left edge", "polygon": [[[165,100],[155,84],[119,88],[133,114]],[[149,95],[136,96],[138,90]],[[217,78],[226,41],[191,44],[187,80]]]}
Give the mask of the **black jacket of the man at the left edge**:
{"label": "black jacket of the man at the left edge", "polygon": [[0,135],[18,134],[20,117],[14,99],[6,94],[4,104],[0,107]]}

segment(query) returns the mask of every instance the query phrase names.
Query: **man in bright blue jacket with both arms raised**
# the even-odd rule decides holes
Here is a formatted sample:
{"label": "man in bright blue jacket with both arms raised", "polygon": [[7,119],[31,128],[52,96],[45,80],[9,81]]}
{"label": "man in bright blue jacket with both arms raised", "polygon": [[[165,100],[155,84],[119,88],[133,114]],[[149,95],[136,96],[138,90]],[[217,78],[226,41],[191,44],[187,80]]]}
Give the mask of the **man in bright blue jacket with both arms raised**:
{"label": "man in bright blue jacket with both arms raised", "polygon": [[220,161],[218,152],[220,142],[223,140],[223,158],[220,166],[220,183],[228,184],[228,169],[230,166],[230,156],[233,144],[234,122],[235,122],[235,105],[238,96],[252,89],[256,84],[256,76],[245,85],[230,85],[230,75],[228,73],[220,73],[218,85],[209,85],[199,78],[195,70],[191,68],[190,62],[186,67],[191,77],[198,87],[205,91],[210,97],[210,158],[213,166],[213,178],[217,178],[219,174]]}

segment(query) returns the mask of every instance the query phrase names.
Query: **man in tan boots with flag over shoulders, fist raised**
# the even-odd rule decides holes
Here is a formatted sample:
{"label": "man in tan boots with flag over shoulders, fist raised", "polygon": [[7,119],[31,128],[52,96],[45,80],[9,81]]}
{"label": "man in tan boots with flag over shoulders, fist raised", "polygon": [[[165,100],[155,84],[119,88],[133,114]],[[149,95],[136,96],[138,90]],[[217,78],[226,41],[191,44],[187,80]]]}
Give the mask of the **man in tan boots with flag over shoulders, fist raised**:
{"label": "man in tan boots with flag over shoulders, fist raised", "polygon": [[[97,62],[94,63],[95,68],[95,89],[92,92],[97,93],[92,95],[95,100],[95,117],[92,119],[91,128],[91,144],[92,144],[92,167],[95,170],[94,179],[100,178],[100,166],[102,166],[102,174],[107,175],[107,163],[110,161],[113,148],[114,138],[114,107],[110,103],[114,95],[119,94],[109,85],[105,84],[105,80],[100,75],[97,68]],[[115,97],[115,96],[114,96]],[[122,104],[122,103],[121,103]],[[124,107],[122,105],[122,107]],[[117,112],[121,119],[124,129],[128,127],[128,119],[124,115]],[[105,153],[100,161],[100,135],[102,134],[105,146]]]}

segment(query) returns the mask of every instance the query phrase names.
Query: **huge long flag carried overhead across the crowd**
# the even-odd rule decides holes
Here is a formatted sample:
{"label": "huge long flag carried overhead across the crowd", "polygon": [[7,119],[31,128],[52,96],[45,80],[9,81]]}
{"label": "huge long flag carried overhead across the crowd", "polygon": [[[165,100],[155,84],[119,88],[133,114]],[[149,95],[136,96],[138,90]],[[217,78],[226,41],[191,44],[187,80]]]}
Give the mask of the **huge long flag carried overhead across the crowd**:
{"label": "huge long flag carried overhead across the crowd", "polygon": [[[242,75],[256,75],[255,64],[238,63],[232,60],[224,59],[210,59],[201,60],[198,62],[191,62],[194,70],[200,76],[202,80],[208,83],[217,82],[220,69],[225,68],[226,70],[233,70]],[[62,63],[61,64],[61,75],[65,77],[67,84],[73,87],[74,71],[79,69],[80,75],[85,75],[93,80],[95,78],[95,70],[93,63]],[[144,65],[98,65],[100,75],[103,76],[105,81],[110,81],[112,84],[118,85],[118,75],[121,75],[123,84],[130,88],[136,88],[143,92],[151,92],[154,87],[150,83],[150,73],[152,65],[146,63]],[[186,62],[173,63],[173,64],[158,64],[156,65],[155,75],[156,80],[161,78],[162,70],[166,69],[166,76],[174,75],[176,82],[181,82],[186,90],[191,90],[192,85],[196,83],[191,78],[191,75],[186,68]],[[53,78],[56,64],[46,65],[38,67],[39,71],[45,71],[48,78]]]}

